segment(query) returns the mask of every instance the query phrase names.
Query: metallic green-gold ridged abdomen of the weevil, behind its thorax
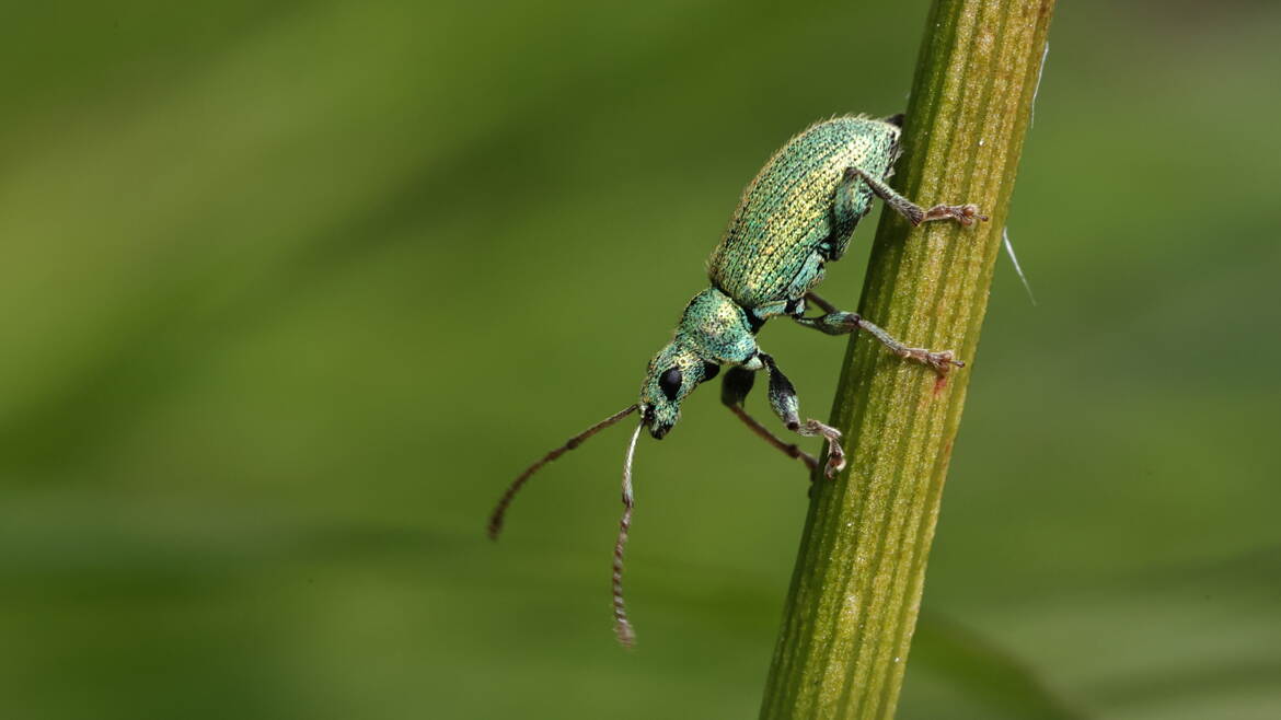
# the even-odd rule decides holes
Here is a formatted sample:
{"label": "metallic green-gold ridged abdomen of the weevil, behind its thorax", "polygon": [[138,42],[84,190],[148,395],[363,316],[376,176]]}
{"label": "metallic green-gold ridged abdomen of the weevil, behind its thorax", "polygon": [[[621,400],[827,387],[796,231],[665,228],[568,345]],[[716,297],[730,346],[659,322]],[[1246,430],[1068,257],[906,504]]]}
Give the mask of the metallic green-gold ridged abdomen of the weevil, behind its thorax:
{"label": "metallic green-gold ridged abdomen of the weevil, behind its thorax", "polygon": [[[792,138],[743,191],[708,263],[712,284],[743,307],[796,300],[822,279],[831,206],[848,167],[885,177],[898,127],[871,118],[833,118]],[[860,184],[861,217],[871,190]]]}

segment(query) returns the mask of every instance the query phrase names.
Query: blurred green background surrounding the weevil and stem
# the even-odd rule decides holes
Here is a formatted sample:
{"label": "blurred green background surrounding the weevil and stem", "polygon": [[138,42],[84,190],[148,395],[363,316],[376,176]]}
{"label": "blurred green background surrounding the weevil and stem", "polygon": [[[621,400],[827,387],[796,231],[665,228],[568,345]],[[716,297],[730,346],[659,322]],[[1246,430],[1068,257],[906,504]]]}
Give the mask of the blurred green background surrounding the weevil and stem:
{"label": "blurred green background surrounding the weevil and stem", "polygon": [[[1281,6],[1211,5],[1059,4],[902,717],[1281,716]],[[715,389],[638,451],[635,652],[626,430],[483,524],[925,12],[6,6],[0,716],[753,716],[804,479]],[[825,416],[843,341],[762,338]]]}

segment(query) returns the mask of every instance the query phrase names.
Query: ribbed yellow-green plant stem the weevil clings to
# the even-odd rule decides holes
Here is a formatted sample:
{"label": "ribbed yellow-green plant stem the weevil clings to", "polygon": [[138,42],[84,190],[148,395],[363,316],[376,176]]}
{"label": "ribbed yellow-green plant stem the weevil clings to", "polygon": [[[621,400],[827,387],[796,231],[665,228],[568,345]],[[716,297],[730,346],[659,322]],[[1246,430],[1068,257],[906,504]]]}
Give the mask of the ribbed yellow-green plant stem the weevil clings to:
{"label": "ribbed yellow-green plant stem the weevil clings to", "polygon": [[[936,0],[895,183],[991,220],[911,228],[883,211],[860,314],[913,346],[975,359],[1053,0]],[[872,338],[849,343],[833,424],[849,468],[815,480],[762,717],[889,717],[971,366],[938,378]]]}

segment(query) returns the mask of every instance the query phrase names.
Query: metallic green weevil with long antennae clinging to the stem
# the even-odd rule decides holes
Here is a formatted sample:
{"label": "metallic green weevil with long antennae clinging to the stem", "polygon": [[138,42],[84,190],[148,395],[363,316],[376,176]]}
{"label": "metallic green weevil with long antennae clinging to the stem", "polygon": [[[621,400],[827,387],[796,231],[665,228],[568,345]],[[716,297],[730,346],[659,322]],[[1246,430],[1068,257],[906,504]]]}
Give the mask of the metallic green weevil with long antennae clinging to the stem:
{"label": "metallic green weevil with long antennae clinging to the stem", "polygon": [[[829,478],[845,466],[840,432],[819,420],[801,420],[796,388],[774,357],[757,345],[756,334],[766,320],[787,316],[828,334],[863,329],[901,357],[927,364],[940,374],[951,365],[963,366],[951,351],[908,347],[812,292],[822,282],[824,266],[845,254],[854,227],[871,209],[874,195],[913,225],[930,220],[970,225],[988,219],[970,204],[922,209],[886,184],[899,155],[902,126],[903,115],[833,118],[811,126],[775,152],[743,191],[725,236],[712,251],[707,264],[711,286],[685,305],[671,342],[649,361],[639,402],[574,436],[525,469],[489,516],[489,537],[497,538],[507,506],[530,475],[639,411],[640,423],[632,433],[624,460],[623,518],[614,544],[614,620],[623,644],[630,646],[635,639],[623,602],[623,548],[632,527],[632,460],[642,429],[648,428],[655,439],[662,439],[680,419],[680,402],[725,365],[721,402],[766,442],[804,462],[812,474],[819,465],[813,456],[775,437],[743,409],[755,373],[765,369],[774,414],[794,433],[826,439]],[[807,302],[816,305],[822,315],[806,316]]]}

